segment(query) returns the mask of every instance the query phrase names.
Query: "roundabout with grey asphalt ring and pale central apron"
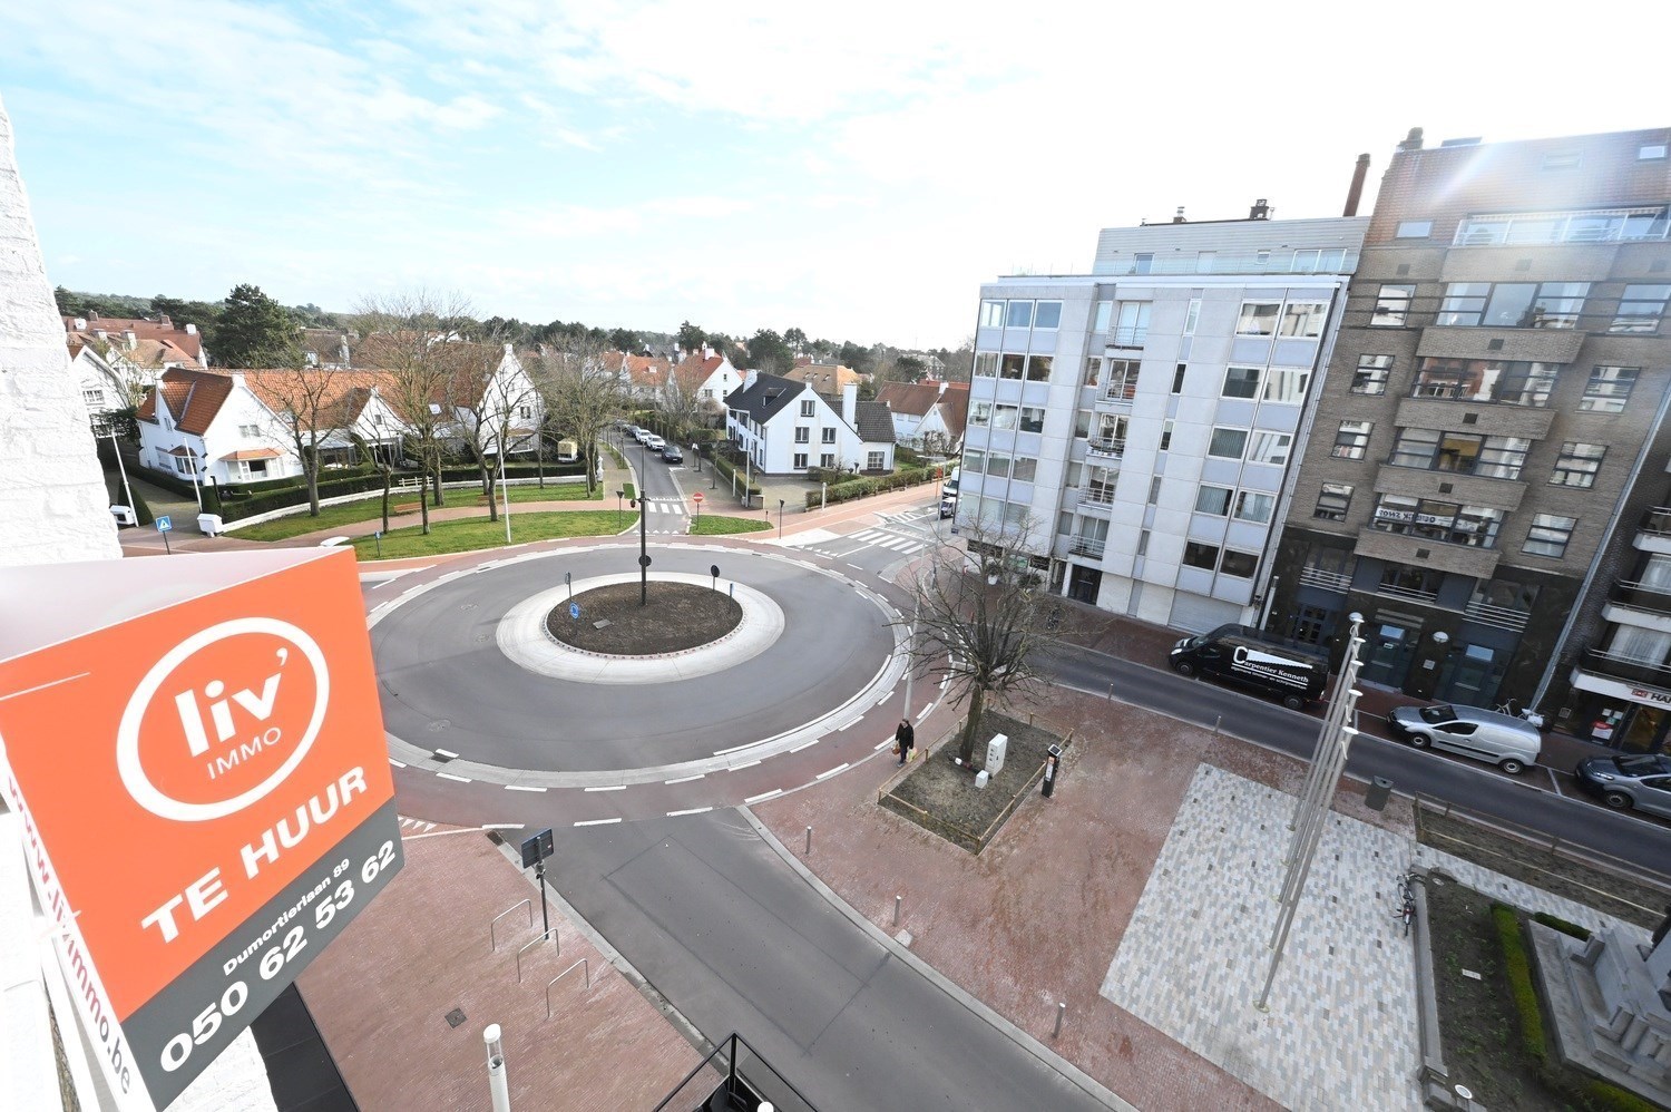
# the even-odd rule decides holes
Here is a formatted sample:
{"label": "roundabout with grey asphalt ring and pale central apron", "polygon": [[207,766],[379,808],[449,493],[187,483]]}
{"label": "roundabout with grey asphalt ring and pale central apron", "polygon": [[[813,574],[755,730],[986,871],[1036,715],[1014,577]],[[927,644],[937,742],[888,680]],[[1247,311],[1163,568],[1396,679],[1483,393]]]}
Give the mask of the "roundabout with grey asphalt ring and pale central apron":
{"label": "roundabout with grey asphalt ring and pale central apron", "polygon": [[[553,635],[548,619],[576,632],[602,620],[590,592],[632,584],[637,600],[635,557],[622,543],[528,552],[376,607],[396,768],[523,793],[620,793],[615,811],[638,818],[678,813],[675,803],[749,803],[770,784],[765,794],[779,794],[889,744],[897,706],[882,704],[904,676],[906,630],[879,594],[775,552],[665,545],[653,550],[652,625],[660,584],[724,595],[739,612],[734,627],[722,629],[715,599],[710,627],[688,647],[653,650],[680,644],[678,630],[640,639],[648,650],[637,655]],[[613,614],[625,615],[618,605]]]}

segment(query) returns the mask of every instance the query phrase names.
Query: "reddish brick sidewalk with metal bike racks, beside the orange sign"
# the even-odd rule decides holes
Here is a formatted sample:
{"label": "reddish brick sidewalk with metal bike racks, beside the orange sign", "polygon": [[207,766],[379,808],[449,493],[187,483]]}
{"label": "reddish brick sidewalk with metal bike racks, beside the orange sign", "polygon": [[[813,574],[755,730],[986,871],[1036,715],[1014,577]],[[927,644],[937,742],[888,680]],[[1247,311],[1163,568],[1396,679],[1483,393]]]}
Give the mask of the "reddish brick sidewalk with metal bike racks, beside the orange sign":
{"label": "reddish brick sidewalk with metal bike racks, beside the orange sign", "polygon": [[[423,824],[428,826],[428,824]],[[297,982],[343,1080],[363,1109],[490,1109],[481,1032],[500,1023],[518,1109],[650,1109],[700,1055],[480,831],[408,831],[406,866]],[[488,923],[516,911],[488,948]],[[551,988],[545,987],[585,958]],[[592,987],[583,977],[590,972]],[[451,1027],[446,1013],[465,1012]]]}

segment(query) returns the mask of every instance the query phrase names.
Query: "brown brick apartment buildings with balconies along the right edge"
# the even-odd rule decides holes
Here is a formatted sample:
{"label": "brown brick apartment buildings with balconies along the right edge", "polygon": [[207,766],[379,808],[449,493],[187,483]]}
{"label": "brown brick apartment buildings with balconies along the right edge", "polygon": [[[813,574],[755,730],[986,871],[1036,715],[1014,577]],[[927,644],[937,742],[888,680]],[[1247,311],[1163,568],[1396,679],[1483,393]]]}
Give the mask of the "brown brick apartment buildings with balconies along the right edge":
{"label": "brown brick apartment buildings with balconies along the right edge", "polygon": [[1365,682],[1536,702],[1599,741],[1649,707],[1633,736],[1663,742],[1668,144],[1671,129],[1429,149],[1417,129],[1399,145],[1268,630],[1338,654],[1357,612]]}

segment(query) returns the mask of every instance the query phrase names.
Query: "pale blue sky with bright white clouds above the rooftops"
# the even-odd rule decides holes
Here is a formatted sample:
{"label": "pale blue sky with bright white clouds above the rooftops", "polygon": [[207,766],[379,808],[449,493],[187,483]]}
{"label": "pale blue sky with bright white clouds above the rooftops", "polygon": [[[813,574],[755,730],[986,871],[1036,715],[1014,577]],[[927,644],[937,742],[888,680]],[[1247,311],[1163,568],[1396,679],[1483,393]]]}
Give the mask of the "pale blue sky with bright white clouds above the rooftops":
{"label": "pale blue sky with bright white clouds above the rooftops", "polygon": [[[1338,216],[1410,127],[1671,125],[1658,3],[0,3],[53,284],[917,348],[1103,227]],[[1599,43],[1594,57],[1579,43]],[[1384,57],[1380,57],[1384,55]]]}

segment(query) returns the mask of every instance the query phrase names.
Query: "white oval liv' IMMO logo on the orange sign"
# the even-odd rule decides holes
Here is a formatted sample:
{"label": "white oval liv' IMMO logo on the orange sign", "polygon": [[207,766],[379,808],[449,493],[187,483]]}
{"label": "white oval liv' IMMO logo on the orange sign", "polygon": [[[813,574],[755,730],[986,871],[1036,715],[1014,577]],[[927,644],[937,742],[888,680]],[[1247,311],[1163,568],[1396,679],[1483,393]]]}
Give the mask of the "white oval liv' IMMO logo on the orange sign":
{"label": "white oval liv' IMMO logo on the orange sign", "polygon": [[145,672],[122,712],[122,783],[162,818],[236,814],[296,771],[329,694],[324,654],[289,622],[246,617],[192,634]]}

